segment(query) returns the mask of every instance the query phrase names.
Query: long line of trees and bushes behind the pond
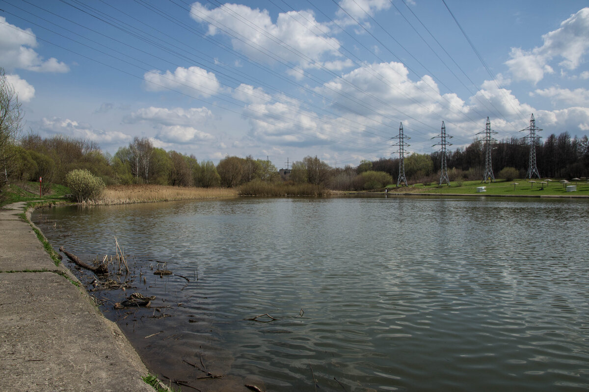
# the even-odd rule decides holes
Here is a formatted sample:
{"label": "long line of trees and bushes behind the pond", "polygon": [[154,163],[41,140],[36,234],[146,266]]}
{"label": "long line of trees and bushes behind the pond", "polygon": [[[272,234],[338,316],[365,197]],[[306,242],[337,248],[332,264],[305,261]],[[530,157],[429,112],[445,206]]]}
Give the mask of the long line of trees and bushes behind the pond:
{"label": "long line of trees and bushes behind the pond", "polygon": [[[536,148],[537,167],[545,177],[584,177],[589,175],[587,136],[571,138],[568,132],[550,135]],[[215,165],[198,161],[194,155],[155,148],[147,138],[135,138],[114,155],[104,153],[95,142],[68,136],[51,138],[29,133],[10,146],[11,163],[4,162],[5,181],[38,181],[46,191],[52,183],[64,183],[74,169],[87,169],[106,185],[155,184],[200,187],[236,187],[252,181],[294,184],[309,183],[334,190],[379,189],[396,184],[399,158],[363,160],[358,166],[331,167],[316,156],[293,162],[281,176],[269,160],[226,156]],[[501,140],[493,145],[492,166],[496,178],[505,167],[511,176],[525,177],[530,146],[519,139]],[[485,151],[480,140],[448,153],[451,181],[477,180],[484,175]],[[405,157],[405,175],[410,183],[435,183],[439,180],[441,155],[413,153]]]}

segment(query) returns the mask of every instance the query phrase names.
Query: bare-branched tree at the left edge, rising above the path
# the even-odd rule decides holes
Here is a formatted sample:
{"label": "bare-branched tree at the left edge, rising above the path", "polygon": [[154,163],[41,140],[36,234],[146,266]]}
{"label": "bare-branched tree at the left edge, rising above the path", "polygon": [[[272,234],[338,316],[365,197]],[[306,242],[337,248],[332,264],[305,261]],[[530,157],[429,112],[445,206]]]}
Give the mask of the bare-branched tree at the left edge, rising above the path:
{"label": "bare-branched tree at the left edge, rising above the path", "polygon": [[4,169],[5,183],[8,182],[8,170],[14,163],[16,150],[12,147],[21,133],[23,119],[18,93],[6,80],[4,68],[0,68],[0,167]]}

